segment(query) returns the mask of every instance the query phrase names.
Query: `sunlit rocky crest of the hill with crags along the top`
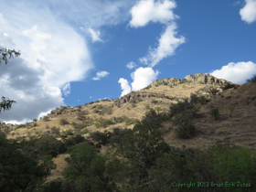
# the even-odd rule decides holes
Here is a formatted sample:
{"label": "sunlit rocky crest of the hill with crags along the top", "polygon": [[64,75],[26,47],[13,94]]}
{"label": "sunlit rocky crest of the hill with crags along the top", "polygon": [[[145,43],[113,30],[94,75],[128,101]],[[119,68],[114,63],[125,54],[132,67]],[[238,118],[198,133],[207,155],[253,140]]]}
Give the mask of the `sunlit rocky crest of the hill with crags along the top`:
{"label": "sunlit rocky crest of the hill with crags along the top", "polygon": [[[181,84],[182,88],[190,87],[191,89],[182,89],[183,93],[185,93],[186,95],[174,95],[173,93],[175,92],[175,90],[170,88],[178,88],[180,87],[178,85]],[[209,97],[210,95],[208,89],[212,89],[214,87],[215,89],[221,91],[222,87],[233,84],[234,83],[228,80],[218,79],[212,75],[206,75],[202,73],[197,73],[195,75],[187,75],[186,79],[184,80],[180,80],[178,78],[165,78],[163,80],[155,80],[142,91],[133,91],[123,96],[121,99],[114,102],[114,106],[120,106],[126,102],[136,103],[142,100],[143,98],[162,98],[169,101],[178,101],[179,99],[190,97],[190,93],[196,91],[192,88],[197,88],[197,91],[201,89],[199,91],[206,97]],[[161,88],[158,89],[158,87],[161,86],[162,88],[165,87],[164,91],[161,91]]]}

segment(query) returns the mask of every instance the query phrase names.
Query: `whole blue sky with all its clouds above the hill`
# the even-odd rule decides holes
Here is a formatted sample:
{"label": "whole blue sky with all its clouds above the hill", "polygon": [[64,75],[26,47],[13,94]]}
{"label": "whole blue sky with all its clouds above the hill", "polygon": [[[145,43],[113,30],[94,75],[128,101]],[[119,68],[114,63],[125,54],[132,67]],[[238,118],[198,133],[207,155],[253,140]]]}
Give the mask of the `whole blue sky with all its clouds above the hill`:
{"label": "whole blue sky with all its clouds above the hill", "polygon": [[0,121],[115,99],[157,79],[256,74],[256,0],[0,0]]}

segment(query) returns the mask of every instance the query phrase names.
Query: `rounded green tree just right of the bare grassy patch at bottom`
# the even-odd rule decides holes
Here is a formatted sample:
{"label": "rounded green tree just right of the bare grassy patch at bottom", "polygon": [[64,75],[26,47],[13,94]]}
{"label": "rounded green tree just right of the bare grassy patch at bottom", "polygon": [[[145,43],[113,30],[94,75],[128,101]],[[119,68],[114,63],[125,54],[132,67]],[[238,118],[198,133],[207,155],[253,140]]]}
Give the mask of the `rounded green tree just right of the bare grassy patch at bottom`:
{"label": "rounded green tree just right of the bare grassy patch at bottom", "polygon": [[63,188],[69,191],[105,191],[105,158],[87,143],[78,144],[70,154],[70,163],[63,176]]}

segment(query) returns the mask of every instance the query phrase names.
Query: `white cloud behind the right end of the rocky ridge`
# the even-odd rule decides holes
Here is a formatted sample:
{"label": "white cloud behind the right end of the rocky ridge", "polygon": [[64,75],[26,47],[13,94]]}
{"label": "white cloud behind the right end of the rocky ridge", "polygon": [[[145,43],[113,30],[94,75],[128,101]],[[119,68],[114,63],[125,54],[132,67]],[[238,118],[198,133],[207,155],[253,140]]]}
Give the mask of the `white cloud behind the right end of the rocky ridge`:
{"label": "white cloud behind the right end of the rocky ridge", "polygon": [[229,80],[234,83],[244,83],[245,80],[250,79],[253,74],[256,74],[256,64],[248,62],[230,62],[228,65],[223,66],[221,69],[214,70],[211,75]]}

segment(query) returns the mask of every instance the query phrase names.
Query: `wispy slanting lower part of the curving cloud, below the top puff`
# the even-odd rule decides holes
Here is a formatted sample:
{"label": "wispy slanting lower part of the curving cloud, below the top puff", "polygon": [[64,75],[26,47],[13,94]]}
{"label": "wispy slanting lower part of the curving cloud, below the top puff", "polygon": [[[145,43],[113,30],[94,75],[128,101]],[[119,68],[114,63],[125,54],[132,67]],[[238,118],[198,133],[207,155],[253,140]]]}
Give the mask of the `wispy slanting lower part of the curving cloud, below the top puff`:
{"label": "wispy slanting lower part of the curving cloud, below the top puff", "polygon": [[160,60],[175,54],[176,48],[185,43],[185,37],[176,37],[176,24],[170,24],[159,39],[157,48],[149,48],[148,55],[140,61],[154,67]]}

